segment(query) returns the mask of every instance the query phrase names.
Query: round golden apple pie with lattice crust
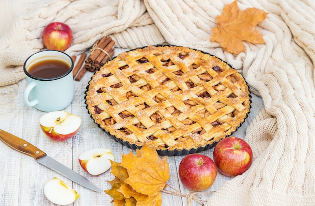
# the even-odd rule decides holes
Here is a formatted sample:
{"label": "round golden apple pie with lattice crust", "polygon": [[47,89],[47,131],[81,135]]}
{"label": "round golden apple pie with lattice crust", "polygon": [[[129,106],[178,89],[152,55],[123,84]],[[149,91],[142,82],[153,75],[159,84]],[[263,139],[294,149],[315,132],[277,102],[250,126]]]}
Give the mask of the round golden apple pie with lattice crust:
{"label": "round golden apple pie with lattice crust", "polygon": [[179,46],[119,54],[95,72],[85,98],[91,118],[114,139],[130,148],[147,143],[166,155],[209,148],[250,111],[250,92],[237,70]]}

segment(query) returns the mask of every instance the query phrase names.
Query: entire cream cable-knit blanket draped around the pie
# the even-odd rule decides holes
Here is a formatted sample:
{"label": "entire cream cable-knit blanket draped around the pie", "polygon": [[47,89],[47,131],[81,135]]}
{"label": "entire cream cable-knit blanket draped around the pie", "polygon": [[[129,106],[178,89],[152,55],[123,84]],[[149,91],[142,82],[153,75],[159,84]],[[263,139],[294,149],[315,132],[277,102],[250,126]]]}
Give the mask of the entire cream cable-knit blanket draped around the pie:
{"label": "entire cream cable-knit blanket draped around the pie", "polygon": [[209,52],[245,76],[265,108],[248,127],[254,162],[224,183],[208,205],[315,204],[315,6],[312,0],[239,0],[240,9],[268,12],[258,30],[265,45],[246,44],[233,56],[209,41],[215,17],[234,0],[0,1],[0,86],[24,78],[22,64],[41,49],[41,31],[68,24],[78,55],[101,36],[118,47],[167,42]]}

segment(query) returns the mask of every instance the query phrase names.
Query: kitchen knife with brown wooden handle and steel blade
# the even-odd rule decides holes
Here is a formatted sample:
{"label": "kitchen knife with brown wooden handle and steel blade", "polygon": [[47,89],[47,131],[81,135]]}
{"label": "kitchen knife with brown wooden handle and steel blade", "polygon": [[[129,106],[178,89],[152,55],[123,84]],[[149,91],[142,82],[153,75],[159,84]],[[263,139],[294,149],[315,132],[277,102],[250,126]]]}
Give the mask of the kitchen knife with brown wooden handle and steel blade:
{"label": "kitchen knife with brown wooden handle and steel blade", "polygon": [[24,139],[21,139],[13,134],[10,134],[9,132],[0,129],[0,140],[6,143],[8,146],[12,147],[13,149],[34,157],[37,162],[58,172],[59,174],[67,177],[68,179],[94,191],[101,191],[88,179],[76,173],[75,171],[69,169],[68,167],[54,160],[53,158],[49,157],[45,152],[38,149],[31,143],[25,141]]}

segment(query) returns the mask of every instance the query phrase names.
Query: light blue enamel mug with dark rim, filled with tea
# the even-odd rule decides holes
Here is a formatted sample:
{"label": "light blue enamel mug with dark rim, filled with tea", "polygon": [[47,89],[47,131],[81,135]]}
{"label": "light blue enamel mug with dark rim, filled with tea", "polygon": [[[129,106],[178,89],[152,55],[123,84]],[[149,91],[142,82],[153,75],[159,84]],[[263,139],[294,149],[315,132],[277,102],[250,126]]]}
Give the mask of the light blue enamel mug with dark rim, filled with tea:
{"label": "light blue enamel mug with dark rim, filled with tea", "polygon": [[[49,68],[49,64],[53,66]],[[41,74],[34,72],[40,67],[47,67],[45,69],[49,70],[42,70]],[[69,55],[55,50],[40,51],[25,61],[23,69],[28,84],[23,93],[26,106],[51,112],[62,110],[71,104],[74,95],[73,60]]]}

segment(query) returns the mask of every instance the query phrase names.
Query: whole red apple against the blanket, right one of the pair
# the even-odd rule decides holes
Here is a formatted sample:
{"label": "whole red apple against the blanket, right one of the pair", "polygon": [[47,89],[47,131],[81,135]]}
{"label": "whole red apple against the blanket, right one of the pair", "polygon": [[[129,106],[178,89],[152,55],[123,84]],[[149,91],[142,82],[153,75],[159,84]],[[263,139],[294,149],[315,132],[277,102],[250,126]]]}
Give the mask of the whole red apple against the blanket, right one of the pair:
{"label": "whole red apple against the blanket, right one of the pair", "polygon": [[242,174],[251,166],[253,151],[245,140],[230,136],[217,143],[213,160],[220,173],[233,177]]}

